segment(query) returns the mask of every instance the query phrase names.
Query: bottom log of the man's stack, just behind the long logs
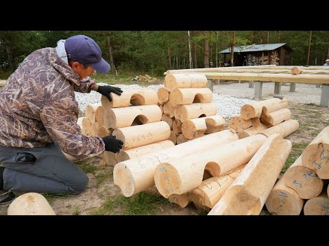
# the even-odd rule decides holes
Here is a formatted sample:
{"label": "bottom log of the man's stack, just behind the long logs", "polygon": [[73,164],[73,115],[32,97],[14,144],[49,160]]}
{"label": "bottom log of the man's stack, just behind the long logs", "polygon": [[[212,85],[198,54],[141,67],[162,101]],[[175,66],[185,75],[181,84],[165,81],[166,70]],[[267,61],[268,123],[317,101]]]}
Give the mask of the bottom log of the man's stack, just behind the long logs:
{"label": "bottom log of the man's stack, just behind the long logs", "polygon": [[170,140],[159,141],[157,143],[149,143],[145,146],[131,148],[130,150],[120,150],[117,154],[118,162],[134,159],[144,154],[156,152],[174,146],[175,144]]}

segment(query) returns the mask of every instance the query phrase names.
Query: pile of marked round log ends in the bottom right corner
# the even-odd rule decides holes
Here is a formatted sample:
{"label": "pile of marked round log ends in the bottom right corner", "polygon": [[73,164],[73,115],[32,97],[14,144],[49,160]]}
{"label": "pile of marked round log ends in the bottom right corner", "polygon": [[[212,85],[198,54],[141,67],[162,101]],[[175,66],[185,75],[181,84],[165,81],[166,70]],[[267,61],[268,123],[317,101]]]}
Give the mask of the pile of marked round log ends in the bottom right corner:
{"label": "pile of marked round log ends in the bottom right corner", "polygon": [[266,201],[276,215],[328,215],[329,126],[324,128],[287,169]]}

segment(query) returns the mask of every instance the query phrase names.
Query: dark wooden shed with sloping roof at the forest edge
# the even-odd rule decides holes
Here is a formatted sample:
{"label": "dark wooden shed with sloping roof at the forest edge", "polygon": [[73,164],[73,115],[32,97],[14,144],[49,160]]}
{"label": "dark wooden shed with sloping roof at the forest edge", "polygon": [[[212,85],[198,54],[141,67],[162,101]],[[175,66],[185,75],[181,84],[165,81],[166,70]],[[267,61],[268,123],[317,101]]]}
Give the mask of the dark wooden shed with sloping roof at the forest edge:
{"label": "dark wooden shed with sloping roof at the forest edge", "polygon": [[[286,43],[235,46],[233,66],[289,65],[291,52]],[[231,48],[219,53],[224,55],[222,66],[230,66]]]}

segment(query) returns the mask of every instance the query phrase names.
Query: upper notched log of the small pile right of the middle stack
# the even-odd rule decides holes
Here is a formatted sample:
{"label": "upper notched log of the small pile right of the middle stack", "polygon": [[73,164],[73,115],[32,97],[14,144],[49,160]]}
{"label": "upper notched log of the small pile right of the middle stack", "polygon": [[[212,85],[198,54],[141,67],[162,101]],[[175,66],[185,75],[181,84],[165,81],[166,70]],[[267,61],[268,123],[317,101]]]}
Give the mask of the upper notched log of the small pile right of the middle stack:
{"label": "upper notched log of the small pile right of the middle stack", "polygon": [[271,98],[262,100],[260,102],[254,102],[252,104],[246,104],[241,107],[241,117],[243,120],[249,120],[252,118],[260,118],[263,107],[265,107],[265,113],[271,113],[279,109],[287,107],[287,98]]}

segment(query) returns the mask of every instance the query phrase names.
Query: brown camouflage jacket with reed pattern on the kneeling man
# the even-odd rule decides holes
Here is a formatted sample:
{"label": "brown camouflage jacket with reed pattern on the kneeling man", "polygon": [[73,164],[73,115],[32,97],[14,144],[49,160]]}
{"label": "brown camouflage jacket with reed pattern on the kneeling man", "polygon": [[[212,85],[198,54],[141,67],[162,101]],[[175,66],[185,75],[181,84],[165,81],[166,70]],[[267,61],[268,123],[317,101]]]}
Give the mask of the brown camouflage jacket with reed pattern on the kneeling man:
{"label": "brown camouflage jacket with reed pattern on the kneeling man", "polygon": [[100,137],[82,135],[74,92],[90,93],[95,81],[79,79],[55,48],[34,51],[0,87],[0,145],[39,148],[56,143],[84,159],[105,150]]}

